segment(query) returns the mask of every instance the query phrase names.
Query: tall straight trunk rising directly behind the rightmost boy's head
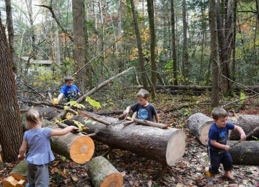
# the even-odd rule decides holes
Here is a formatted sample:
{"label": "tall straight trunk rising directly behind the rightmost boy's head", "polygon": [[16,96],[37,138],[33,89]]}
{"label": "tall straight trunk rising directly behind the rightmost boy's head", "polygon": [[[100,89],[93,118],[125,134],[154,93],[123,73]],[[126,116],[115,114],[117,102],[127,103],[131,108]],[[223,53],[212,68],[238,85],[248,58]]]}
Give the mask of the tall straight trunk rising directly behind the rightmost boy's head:
{"label": "tall straight trunk rising directly behind the rightmost boy's head", "polygon": [[209,26],[210,26],[210,50],[212,59],[212,96],[210,108],[218,107],[219,102],[219,66],[218,66],[218,46],[217,46],[217,28],[216,28],[216,11],[215,0],[209,2]]}

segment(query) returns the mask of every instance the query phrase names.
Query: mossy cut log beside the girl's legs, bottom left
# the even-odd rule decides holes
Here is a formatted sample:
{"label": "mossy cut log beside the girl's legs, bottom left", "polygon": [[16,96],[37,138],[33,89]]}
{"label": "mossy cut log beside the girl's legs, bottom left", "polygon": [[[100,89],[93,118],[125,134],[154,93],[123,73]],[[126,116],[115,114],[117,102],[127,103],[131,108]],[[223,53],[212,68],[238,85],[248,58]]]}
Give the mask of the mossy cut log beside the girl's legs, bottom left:
{"label": "mossy cut log beside the girl's legs, bottom left", "polygon": [[20,163],[11,171],[9,176],[14,177],[17,181],[24,180],[27,182],[26,160],[20,161]]}

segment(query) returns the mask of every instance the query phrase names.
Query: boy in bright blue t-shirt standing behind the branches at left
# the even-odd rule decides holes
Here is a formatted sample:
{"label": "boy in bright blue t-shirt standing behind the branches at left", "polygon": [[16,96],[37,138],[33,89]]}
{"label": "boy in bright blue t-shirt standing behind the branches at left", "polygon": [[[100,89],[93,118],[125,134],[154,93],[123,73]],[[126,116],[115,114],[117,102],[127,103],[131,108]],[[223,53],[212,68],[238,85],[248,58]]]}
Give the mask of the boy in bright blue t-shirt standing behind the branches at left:
{"label": "boy in bright blue t-shirt standing behind the branches at left", "polygon": [[66,83],[66,85],[61,87],[58,101],[60,101],[63,96],[65,96],[67,102],[76,101],[81,95],[76,85],[73,84],[73,77],[70,75],[66,75],[64,77],[64,82]]}

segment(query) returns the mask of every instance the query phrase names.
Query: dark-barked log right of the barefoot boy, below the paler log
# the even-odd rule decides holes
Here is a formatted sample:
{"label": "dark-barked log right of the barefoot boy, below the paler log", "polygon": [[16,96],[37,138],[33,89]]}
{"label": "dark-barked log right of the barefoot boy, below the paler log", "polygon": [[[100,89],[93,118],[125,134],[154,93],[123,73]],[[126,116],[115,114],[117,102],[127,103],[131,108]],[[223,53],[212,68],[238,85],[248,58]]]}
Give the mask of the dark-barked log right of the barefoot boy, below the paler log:
{"label": "dark-barked log right of the barefoot boy, below the paler log", "polygon": [[[237,141],[227,141],[227,145],[232,146]],[[229,151],[233,164],[259,165],[259,141],[241,141]]]}

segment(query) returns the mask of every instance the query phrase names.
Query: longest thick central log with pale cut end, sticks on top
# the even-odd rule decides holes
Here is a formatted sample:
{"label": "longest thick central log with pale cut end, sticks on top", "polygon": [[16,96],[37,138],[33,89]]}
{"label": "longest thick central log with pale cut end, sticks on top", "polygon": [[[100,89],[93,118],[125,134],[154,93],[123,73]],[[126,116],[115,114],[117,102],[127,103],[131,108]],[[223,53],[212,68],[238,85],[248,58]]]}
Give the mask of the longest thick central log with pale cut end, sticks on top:
{"label": "longest thick central log with pale cut end, sticks on top", "polygon": [[116,124],[117,119],[105,116],[92,116],[106,120],[113,125],[101,123],[85,124],[83,116],[74,116],[64,123],[74,125],[72,120],[85,124],[89,129],[85,132],[92,134],[94,140],[109,145],[111,148],[126,149],[140,156],[172,166],[179,161],[185,151],[185,134],[176,128],[160,129],[155,127],[136,125],[135,123],[124,126],[122,123]]}

